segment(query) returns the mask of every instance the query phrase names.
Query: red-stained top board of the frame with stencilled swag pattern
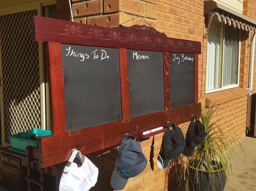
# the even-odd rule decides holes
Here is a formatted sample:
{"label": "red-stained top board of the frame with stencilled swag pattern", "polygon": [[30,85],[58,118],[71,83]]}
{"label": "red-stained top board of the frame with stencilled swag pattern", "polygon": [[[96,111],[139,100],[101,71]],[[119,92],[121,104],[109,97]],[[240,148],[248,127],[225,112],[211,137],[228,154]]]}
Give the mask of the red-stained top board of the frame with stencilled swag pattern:
{"label": "red-stained top board of the frame with stencilled swag pattern", "polygon": [[33,40],[201,54],[201,42],[118,30],[46,17],[32,17]]}

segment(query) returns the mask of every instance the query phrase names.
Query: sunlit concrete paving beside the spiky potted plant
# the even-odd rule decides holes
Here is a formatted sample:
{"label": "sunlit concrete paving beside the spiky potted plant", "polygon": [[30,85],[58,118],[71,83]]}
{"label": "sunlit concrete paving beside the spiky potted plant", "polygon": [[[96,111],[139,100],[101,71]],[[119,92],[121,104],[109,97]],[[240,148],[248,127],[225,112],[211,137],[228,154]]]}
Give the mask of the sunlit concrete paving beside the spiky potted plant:
{"label": "sunlit concrete paving beside the spiky potted plant", "polygon": [[[247,147],[247,159],[244,163],[242,152],[235,148],[237,155],[231,159],[232,175],[226,184],[224,191],[256,191],[256,138],[245,137],[241,143]],[[239,158],[240,156],[240,158]],[[236,165],[236,163],[237,165]],[[184,191],[184,181],[180,187],[176,186],[171,191]]]}

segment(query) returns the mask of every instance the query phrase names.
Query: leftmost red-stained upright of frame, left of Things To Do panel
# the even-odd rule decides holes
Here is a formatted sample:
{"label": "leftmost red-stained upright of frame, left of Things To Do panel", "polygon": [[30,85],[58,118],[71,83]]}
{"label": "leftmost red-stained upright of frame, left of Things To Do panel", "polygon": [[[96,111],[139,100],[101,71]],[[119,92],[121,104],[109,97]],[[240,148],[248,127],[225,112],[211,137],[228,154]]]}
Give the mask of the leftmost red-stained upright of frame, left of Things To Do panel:
{"label": "leftmost red-stained upright of frame, left of Things To Do panel", "polygon": [[46,44],[52,135],[66,132],[61,43]]}

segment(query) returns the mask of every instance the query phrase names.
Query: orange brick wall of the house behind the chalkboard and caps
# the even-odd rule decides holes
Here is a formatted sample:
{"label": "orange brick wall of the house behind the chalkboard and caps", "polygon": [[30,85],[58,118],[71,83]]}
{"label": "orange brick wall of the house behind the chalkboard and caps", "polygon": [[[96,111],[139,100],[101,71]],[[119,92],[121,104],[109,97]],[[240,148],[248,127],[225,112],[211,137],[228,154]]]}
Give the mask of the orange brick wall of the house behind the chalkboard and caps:
{"label": "orange brick wall of the house behind the chalkboard and caps", "polygon": [[[254,0],[249,1],[252,1],[252,5],[255,4]],[[250,2],[245,0],[243,8],[244,14],[252,17],[252,14],[254,14],[253,10],[256,9],[247,8],[246,5]],[[57,0],[58,18],[69,20],[69,7],[67,3],[67,0]],[[159,32],[164,32],[168,37],[200,41],[202,43],[202,54],[198,57],[198,95],[201,101],[205,100],[207,51],[207,40],[203,38],[203,27],[208,22],[208,17],[205,18],[203,16],[203,7],[204,0],[72,0],[72,12],[75,22],[104,27],[114,27],[123,22],[125,22],[123,23],[125,26],[134,24],[146,24],[149,26],[150,24]],[[248,87],[249,36],[248,32],[242,31],[239,81],[239,86],[242,88]],[[256,64],[254,66],[256,71]],[[256,87],[256,83],[254,85]],[[213,120],[225,116],[220,125],[224,125],[223,128],[225,128],[225,125],[229,123],[239,138],[243,138],[245,136],[247,118],[247,96],[231,101],[229,99],[222,107],[224,108],[218,111]],[[129,179],[124,191],[170,190],[177,184],[177,177],[180,172],[177,170],[178,174],[176,174],[174,164],[177,169],[180,169],[180,162],[174,161],[172,165],[163,170],[159,169],[156,165],[162,136],[163,133],[150,137],[148,140],[140,140],[143,153],[149,160],[148,166],[140,175]],[[110,179],[115,168],[117,150],[118,147],[111,147],[87,155],[99,168],[98,182],[91,190],[113,190],[110,185]]]}

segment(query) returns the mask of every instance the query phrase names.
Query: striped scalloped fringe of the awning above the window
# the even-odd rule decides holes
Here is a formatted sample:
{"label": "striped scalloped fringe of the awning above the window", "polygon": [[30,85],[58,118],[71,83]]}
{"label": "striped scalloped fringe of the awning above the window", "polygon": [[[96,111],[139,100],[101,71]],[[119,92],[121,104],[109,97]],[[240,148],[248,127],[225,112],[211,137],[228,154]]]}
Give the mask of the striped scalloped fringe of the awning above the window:
{"label": "striped scalloped fringe of the awning above the window", "polygon": [[246,23],[245,20],[240,19],[235,15],[230,14],[230,16],[224,16],[223,14],[215,11],[213,11],[213,14],[219,22],[223,21],[225,24],[228,23],[229,26],[232,24],[234,27],[238,27],[239,29],[241,28],[242,30],[249,31],[250,33],[256,33],[256,28],[250,26],[250,23]]}

